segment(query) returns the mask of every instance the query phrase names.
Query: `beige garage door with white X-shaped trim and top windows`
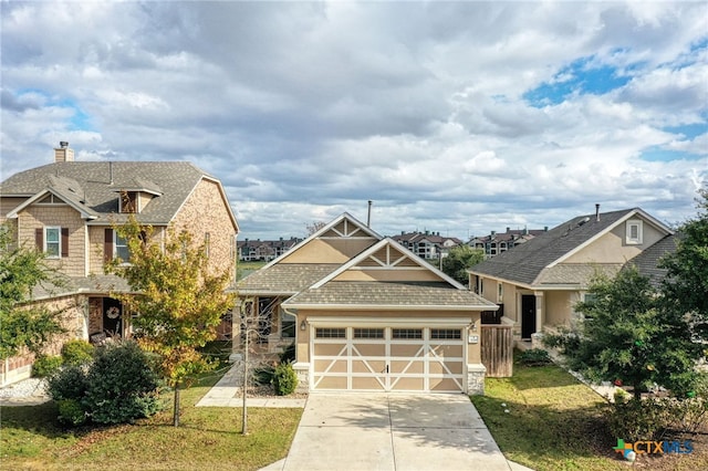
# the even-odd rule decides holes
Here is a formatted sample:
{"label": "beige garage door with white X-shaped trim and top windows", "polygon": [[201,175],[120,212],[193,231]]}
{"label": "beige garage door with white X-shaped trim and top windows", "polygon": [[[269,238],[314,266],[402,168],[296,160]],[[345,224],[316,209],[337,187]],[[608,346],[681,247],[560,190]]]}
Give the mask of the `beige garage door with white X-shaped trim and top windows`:
{"label": "beige garage door with white X-shaped trim and top windows", "polygon": [[465,390],[461,328],[317,326],[313,334],[315,390]]}

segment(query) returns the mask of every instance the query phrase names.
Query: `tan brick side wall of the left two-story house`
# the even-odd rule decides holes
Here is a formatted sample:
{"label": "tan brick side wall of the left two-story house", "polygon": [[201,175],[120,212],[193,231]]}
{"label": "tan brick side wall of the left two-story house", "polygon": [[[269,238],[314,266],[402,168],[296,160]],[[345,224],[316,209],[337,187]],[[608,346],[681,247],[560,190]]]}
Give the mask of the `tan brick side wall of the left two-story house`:
{"label": "tan brick side wall of the left two-story house", "polygon": [[236,228],[217,182],[202,179],[173,221],[177,232],[187,230],[195,243],[209,233],[209,265],[214,272],[236,273]]}

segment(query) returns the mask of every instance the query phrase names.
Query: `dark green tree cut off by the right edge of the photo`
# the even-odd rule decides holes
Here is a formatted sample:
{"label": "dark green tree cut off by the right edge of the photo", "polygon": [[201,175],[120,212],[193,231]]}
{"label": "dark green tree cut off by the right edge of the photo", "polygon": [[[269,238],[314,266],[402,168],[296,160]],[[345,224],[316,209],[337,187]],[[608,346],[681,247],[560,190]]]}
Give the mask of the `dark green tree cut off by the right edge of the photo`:
{"label": "dark green tree cut off by the right edge of the photo", "polygon": [[662,262],[662,292],[664,307],[688,316],[696,338],[708,341],[708,188],[698,193],[698,216],[679,228],[676,251]]}

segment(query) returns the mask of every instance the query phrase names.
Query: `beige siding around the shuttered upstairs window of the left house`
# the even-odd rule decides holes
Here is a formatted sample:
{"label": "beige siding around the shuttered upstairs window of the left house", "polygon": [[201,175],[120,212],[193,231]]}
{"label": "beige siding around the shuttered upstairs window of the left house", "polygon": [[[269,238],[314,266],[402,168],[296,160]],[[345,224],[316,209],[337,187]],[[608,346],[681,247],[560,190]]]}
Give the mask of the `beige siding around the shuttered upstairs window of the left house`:
{"label": "beige siding around the shuttered upstairs window of the left house", "polygon": [[45,227],[69,229],[69,257],[46,259],[49,266],[69,276],[85,276],[86,232],[81,214],[67,205],[31,205],[18,214],[18,238],[35,247],[34,230]]}

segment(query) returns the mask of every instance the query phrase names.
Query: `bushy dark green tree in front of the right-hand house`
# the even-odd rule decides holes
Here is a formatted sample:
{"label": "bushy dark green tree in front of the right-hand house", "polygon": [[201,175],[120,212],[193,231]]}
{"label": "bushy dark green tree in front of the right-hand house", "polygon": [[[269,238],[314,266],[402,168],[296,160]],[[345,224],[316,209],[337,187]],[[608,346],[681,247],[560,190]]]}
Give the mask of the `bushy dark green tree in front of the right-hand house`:
{"label": "bushy dark green tree in front of the right-hand house", "polygon": [[584,316],[577,329],[544,338],[561,348],[571,369],[596,383],[632,386],[635,398],[654,384],[677,396],[690,391],[700,347],[685,317],[660,308],[647,276],[628,265],[614,279],[595,276],[589,294],[575,305]]}

